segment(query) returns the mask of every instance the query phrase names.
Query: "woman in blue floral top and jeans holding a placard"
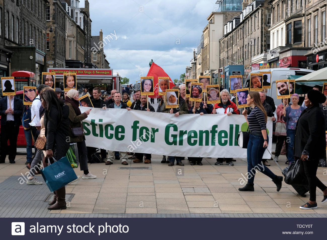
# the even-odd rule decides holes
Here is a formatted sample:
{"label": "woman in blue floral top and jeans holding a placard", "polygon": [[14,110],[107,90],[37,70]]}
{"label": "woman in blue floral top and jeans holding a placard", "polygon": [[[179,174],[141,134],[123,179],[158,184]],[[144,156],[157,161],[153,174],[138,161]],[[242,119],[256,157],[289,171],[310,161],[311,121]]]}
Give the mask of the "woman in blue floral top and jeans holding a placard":
{"label": "woman in blue floral top and jeans holding a placard", "polygon": [[291,97],[292,104],[290,106],[286,105],[285,109],[283,110],[283,115],[285,116],[283,117],[283,119],[286,122],[286,139],[289,139],[286,164],[294,161],[293,147],[295,138],[295,127],[302,111],[304,110],[304,107],[298,104],[299,99],[299,95],[294,93]]}

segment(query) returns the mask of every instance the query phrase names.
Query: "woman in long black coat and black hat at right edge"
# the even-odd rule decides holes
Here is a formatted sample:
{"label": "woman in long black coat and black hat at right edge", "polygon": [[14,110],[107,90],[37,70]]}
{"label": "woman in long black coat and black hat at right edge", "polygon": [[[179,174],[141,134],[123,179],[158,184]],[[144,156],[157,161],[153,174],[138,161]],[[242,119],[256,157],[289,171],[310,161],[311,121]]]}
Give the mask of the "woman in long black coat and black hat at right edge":
{"label": "woman in long black coat and black hat at right edge", "polygon": [[309,183],[310,200],[301,209],[317,208],[316,188],[323,191],[322,203],[327,202],[327,187],[317,178],[319,159],[326,151],[325,117],[319,107],[326,97],[317,90],[309,90],[305,95],[307,107],[301,114],[295,129],[294,157],[300,161],[300,173]]}

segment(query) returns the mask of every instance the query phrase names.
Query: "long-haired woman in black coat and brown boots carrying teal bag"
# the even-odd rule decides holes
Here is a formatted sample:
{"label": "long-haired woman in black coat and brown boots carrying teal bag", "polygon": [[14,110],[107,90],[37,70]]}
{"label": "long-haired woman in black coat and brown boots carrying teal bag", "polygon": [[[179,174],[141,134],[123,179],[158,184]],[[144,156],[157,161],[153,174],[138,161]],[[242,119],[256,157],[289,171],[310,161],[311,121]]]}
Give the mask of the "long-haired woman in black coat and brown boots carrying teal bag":
{"label": "long-haired woman in black coat and brown boots carrying teal bag", "polygon": [[[55,91],[43,91],[40,94],[40,99],[45,109],[45,154],[46,159],[49,159],[52,164],[54,163],[53,158],[60,160],[66,155],[69,148],[69,142],[66,141],[67,136],[69,136],[69,108],[58,99]],[[61,187],[55,193],[56,202],[48,209],[66,209],[65,187]]]}

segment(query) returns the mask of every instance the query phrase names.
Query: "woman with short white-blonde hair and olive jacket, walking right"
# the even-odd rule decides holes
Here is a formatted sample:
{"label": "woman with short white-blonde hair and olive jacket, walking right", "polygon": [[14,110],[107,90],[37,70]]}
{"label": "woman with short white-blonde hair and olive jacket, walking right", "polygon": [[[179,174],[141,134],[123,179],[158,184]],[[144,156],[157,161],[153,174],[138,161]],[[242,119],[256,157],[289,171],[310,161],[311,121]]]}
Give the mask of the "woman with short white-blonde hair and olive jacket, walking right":
{"label": "woman with short white-blonde hair and olive jacket, walking right", "polygon": [[[87,165],[87,149],[85,144],[84,130],[82,127],[82,120],[87,118],[87,116],[90,114],[91,109],[86,110],[84,113],[81,113],[79,109],[79,102],[77,99],[78,91],[76,89],[70,89],[67,92],[65,98],[65,104],[69,107],[69,127],[71,129],[71,131],[69,132],[70,142],[77,143],[79,168],[81,171],[84,172],[82,179],[94,179],[96,178],[96,176],[89,172],[89,168]],[[75,136],[72,133],[73,128],[81,128],[83,134],[81,136]]]}

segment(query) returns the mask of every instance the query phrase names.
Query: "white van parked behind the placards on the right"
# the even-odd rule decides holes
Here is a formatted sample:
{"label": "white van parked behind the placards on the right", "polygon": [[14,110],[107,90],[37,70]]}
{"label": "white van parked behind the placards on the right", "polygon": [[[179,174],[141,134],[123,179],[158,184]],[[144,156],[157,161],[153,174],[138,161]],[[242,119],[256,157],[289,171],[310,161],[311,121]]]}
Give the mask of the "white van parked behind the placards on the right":
{"label": "white van parked behind the placards on the right", "polygon": [[[271,80],[270,80],[271,88],[267,89],[268,90],[267,96],[270,96],[274,99],[275,106],[277,108],[277,106],[279,104],[281,104],[282,101],[281,101],[281,99],[277,99],[276,80],[287,79],[290,75],[303,76],[303,75],[306,75],[306,74],[308,74],[310,72],[314,72],[314,71],[309,70],[309,69],[303,69],[303,68],[269,68],[269,69],[252,71],[250,73],[259,73],[259,72],[271,72]],[[243,88],[249,88],[249,87],[250,87],[250,74],[243,84]],[[276,112],[274,114],[276,116]]]}

